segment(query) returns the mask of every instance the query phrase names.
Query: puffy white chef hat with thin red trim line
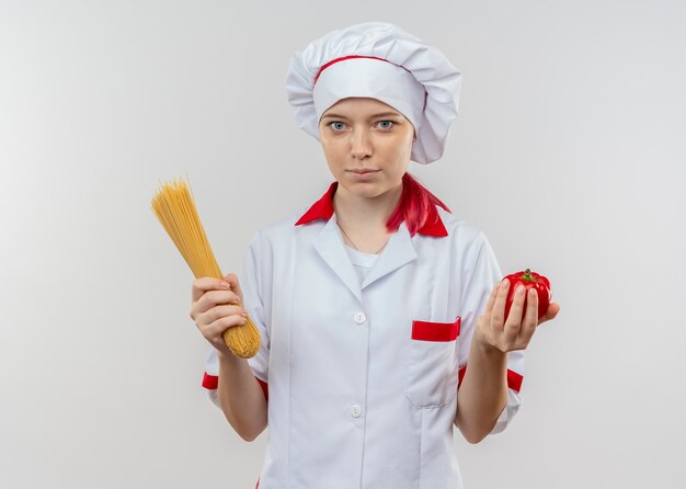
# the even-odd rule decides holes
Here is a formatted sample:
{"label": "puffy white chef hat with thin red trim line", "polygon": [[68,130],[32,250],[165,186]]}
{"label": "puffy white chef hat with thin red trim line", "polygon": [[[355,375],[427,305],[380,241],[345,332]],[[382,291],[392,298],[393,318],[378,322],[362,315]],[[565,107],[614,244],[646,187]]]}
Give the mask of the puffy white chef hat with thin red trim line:
{"label": "puffy white chef hat with thin red trim line", "polygon": [[341,99],[368,96],[401,112],[414,126],[410,158],[443,155],[457,115],[461,73],[435,47],[385,22],[333,31],[290,58],[288,101],[301,129],[319,139],[319,120]]}

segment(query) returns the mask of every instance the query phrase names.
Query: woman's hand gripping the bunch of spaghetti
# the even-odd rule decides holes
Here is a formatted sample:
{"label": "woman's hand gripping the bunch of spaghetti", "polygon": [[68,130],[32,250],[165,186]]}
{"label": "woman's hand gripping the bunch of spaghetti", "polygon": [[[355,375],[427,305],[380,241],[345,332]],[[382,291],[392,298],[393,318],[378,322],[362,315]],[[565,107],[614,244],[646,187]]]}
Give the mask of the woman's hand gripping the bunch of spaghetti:
{"label": "woman's hand gripping the bunch of spaghetti", "polygon": [[244,325],[247,317],[243,294],[235,273],[224,280],[204,276],[193,282],[191,319],[220,353],[231,353],[221,334],[228,328]]}

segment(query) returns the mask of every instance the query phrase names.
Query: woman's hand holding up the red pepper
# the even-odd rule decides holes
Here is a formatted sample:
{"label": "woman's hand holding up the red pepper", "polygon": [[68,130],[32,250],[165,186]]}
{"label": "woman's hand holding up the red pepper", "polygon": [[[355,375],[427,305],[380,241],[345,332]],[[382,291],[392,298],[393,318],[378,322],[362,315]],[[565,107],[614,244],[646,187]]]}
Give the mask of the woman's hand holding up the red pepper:
{"label": "woman's hand holding up the red pepper", "polygon": [[[533,288],[528,291],[526,310],[524,310],[526,292],[524,286],[518,285],[510,315],[505,318],[505,303],[510,286],[510,281],[503,280],[493,287],[485,311],[479,317],[475,331],[475,340],[501,352],[526,349],[536,332],[536,328],[554,319],[560,311],[558,304],[550,303],[544,317],[538,319],[538,295]],[[522,315],[523,311],[524,316]]]}

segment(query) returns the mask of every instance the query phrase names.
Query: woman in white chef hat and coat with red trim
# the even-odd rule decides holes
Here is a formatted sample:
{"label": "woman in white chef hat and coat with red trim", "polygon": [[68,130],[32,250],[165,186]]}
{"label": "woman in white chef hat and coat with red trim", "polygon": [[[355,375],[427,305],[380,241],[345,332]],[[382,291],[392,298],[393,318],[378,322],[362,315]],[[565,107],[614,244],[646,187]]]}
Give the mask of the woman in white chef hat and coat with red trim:
{"label": "woman in white chef hat and coat with red trim", "polygon": [[[256,234],[240,283],[196,280],[191,309],[214,346],[211,399],[244,440],[268,425],[262,489],[460,488],[453,427],[478,443],[522,402],[523,350],[559,306],[537,321],[519,289],[504,318],[484,235],[407,173],[442,156],[459,81],[387,23],[291,58],[288,99],[335,181]],[[247,314],[262,336],[250,360],[221,338]]]}

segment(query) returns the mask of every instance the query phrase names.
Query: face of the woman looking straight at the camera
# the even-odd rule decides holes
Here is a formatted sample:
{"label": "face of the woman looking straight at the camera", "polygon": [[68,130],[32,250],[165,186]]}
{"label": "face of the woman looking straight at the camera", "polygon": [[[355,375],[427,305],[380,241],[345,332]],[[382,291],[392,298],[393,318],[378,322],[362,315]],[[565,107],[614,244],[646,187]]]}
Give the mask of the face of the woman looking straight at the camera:
{"label": "face of the woman looking straight at the camera", "polygon": [[377,197],[398,189],[410,163],[414,127],[376,99],[343,99],[319,122],[331,173],[345,191]]}

